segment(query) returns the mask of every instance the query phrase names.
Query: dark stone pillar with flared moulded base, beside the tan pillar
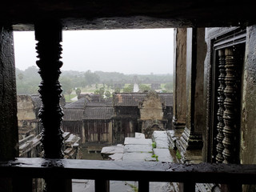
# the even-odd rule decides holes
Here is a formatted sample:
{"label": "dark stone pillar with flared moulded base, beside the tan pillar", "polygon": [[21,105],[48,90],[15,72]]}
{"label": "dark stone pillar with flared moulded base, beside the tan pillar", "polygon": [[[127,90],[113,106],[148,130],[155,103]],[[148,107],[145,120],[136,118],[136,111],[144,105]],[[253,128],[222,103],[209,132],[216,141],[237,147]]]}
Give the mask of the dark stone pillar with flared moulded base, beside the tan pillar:
{"label": "dark stone pillar with flared moulded base, beside the tan pillar", "polygon": [[177,141],[182,162],[202,161],[205,29],[188,28],[186,38],[186,128]]}

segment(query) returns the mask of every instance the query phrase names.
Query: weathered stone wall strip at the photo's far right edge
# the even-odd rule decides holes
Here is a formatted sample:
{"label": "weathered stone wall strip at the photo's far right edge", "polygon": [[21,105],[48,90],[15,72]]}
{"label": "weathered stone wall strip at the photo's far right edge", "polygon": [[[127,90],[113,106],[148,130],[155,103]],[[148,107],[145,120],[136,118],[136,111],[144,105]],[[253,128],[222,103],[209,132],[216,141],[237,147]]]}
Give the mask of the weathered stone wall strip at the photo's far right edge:
{"label": "weathered stone wall strip at the photo's far right edge", "polygon": [[256,26],[247,27],[245,69],[242,90],[240,158],[243,164],[256,164]]}

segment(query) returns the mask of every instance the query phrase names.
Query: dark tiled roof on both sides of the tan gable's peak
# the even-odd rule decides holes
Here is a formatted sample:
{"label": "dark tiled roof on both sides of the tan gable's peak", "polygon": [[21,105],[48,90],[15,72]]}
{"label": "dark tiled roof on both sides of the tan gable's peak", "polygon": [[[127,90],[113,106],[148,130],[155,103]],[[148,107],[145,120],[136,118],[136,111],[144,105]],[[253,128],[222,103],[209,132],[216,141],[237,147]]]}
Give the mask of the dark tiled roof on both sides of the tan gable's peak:
{"label": "dark tiled roof on both sides of the tan gable's peak", "polygon": [[[146,98],[147,93],[119,93],[114,94],[114,106],[138,106]],[[158,93],[166,106],[173,106],[173,94]]]}

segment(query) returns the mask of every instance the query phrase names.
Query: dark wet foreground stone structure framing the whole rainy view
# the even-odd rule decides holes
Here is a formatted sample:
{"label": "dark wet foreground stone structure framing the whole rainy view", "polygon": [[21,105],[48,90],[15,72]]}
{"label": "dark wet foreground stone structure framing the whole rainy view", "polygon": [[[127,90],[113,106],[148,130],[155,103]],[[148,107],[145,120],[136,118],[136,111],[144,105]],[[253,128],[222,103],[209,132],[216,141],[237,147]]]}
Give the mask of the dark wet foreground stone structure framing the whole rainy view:
{"label": "dark wet foreground stone structure framing the whole rainy view", "polygon": [[[184,42],[178,40],[178,37],[182,35],[176,36],[175,48],[176,55],[181,56],[175,57],[175,71],[178,73],[175,76],[177,83],[175,83],[176,90],[174,90],[176,92],[174,94],[174,126],[178,130],[177,136],[180,141],[178,147],[183,160],[193,161],[193,150],[195,150],[198,161],[209,163],[198,166],[174,165],[183,171],[179,174],[175,172],[175,169],[170,169],[171,165],[168,165],[168,170],[172,170],[171,174],[168,170],[159,171],[164,175],[169,173],[170,177],[176,173],[176,181],[183,182],[183,189],[186,191],[194,190],[195,182],[203,182],[207,179],[208,182],[214,183],[225,181],[229,184],[230,191],[241,191],[243,183],[255,184],[255,24],[255,7],[254,1],[251,0],[232,2],[131,0],[111,1],[111,3],[99,0],[2,2],[0,6],[1,190],[29,191],[32,183],[30,178],[37,177],[39,174],[46,178],[46,190],[71,191],[68,186],[69,182],[66,181],[67,178],[70,179],[69,173],[72,173],[74,178],[89,177],[87,174],[82,177],[82,172],[76,172],[76,174],[73,170],[67,172],[71,170],[69,166],[71,161],[62,164],[65,161],[61,159],[63,158],[63,138],[60,134],[62,132],[60,129],[62,109],[59,105],[59,97],[62,91],[58,78],[62,66],[60,42],[62,42],[62,30],[64,29],[183,27],[182,30],[178,28],[177,34],[185,32],[186,43],[179,44],[179,42]],[[6,162],[6,160],[18,157],[13,30],[35,30],[35,38],[38,41],[37,63],[42,77],[40,94],[44,104],[41,116],[45,131],[42,135],[42,146],[46,152],[45,158],[54,158],[27,161],[30,166],[21,163],[21,159]],[[186,61],[186,64],[178,61]],[[186,105],[184,105],[184,100]],[[182,110],[178,110],[179,106],[182,106]],[[198,158],[200,154],[201,159]],[[50,162],[48,166],[46,162]],[[216,165],[211,162],[224,163]],[[242,165],[226,165],[232,162]],[[91,166],[97,167],[95,171],[104,173],[106,176],[126,170],[115,167],[116,164],[111,162],[101,163],[102,169],[93,162],[90,168],[83,166],[85,169],[83,173],[91,171],[93,175],[91,178],[96,180],[95,191],[108,191],[109,182],[107,181],[110,177],[95,176]],[[154,180],[151,165],[153,164],[139,165],[141,170],[146,170],[143,180],[137,177],[140,182],[139,190],[149,191],[149,181]],[[154,165],[159,164],[154,163]],[[31,171],[31,166],[36,172]],[[134,173],[141,175],[143,172],[132,170],[133,167],[129,163],[124,163],[123,166],[126,166],[132,173],[132,179],[137,176]],[[193,169],[189,169],[191,167],[198,168],[197,173],[200,172],[201,177]],[[242,168],[232,170],[232,167]],[[12,171],[14,169],[15,172]],[[61,178],[54,177],[56,170],[62,171]],[[76,170],[82,171],[80,167]],[[22,181],[17,181],[17,174],[22,174]],[[212,177],[216,174],[218,177]],[[239,177],[241,174],[246,176],[246,180]],[[191,177],[191,175],[199,177]],[[203,178],[202,175],[207,177]],[[166,181],[166,177],[161,178],[161,176],[159,174],[155,180]],[[123,175],[120,174],[120,177],[122,179]],[[223,180],[220,181],[219,178]],[[226,191],[225,186],[222,185],[223,191]],[[243,187],[244,191],[255,190],[254,186]]]}

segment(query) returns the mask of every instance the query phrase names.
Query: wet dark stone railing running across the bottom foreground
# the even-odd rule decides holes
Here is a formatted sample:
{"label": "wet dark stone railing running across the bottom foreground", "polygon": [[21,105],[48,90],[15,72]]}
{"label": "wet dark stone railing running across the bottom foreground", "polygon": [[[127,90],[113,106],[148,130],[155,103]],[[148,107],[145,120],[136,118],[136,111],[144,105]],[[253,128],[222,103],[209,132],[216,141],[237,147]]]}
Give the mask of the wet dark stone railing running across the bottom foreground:
{"label": "wet dark stone railing running across the bottom foreground", "polygon": [[[140,192],[150,191],[150,182],[182,182],[180,191],[195,191],[196,183],[222,183],[241,191],[242,184],[256,184],[256,165],[17,158],[0,162],[0,178],[19,178],[20,191],[32,191],[32,178],[47,178],[52,182],[93,179],[96,192],[110,191],[110,180],[138,181]],[[65,185],[62,182],[54,190],[72,191]]]}

